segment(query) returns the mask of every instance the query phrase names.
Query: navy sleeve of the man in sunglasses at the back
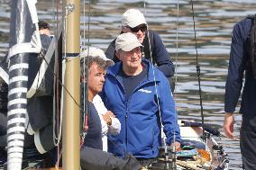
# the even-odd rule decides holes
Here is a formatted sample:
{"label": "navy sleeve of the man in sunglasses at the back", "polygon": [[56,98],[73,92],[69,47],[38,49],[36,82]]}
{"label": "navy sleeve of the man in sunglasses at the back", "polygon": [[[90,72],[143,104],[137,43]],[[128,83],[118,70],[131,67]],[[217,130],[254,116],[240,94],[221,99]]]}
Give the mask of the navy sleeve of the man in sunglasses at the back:
{"label": "navy sleeve of the man in sunglasses at the back", "polygon": [[153,32],[153,58],[157,63],[160,71],[167,77],[174,75],[174,66],[169,58],[169,53],[165,48],[157,32]]}

